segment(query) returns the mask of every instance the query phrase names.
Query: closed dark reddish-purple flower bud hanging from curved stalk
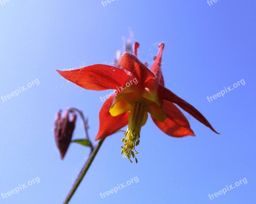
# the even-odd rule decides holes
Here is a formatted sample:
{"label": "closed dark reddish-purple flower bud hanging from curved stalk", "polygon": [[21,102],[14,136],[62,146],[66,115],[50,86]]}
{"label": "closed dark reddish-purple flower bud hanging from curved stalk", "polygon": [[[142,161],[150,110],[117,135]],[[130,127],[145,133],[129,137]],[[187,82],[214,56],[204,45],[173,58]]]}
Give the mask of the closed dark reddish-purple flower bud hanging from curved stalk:
{"label": "closed dark reddish-purple flower bud hanging from curved stalk", "polygon": [[[69,120],[69,113],[72,114],[71,120]],[[72,134],[75,129],[76,114],[73,111],[67,112],[61,117],[61,110],[58,111],[54,120],[54,137],[56,145],[60,152],[60,158],[63,159],[69,144],[71,142]]]}

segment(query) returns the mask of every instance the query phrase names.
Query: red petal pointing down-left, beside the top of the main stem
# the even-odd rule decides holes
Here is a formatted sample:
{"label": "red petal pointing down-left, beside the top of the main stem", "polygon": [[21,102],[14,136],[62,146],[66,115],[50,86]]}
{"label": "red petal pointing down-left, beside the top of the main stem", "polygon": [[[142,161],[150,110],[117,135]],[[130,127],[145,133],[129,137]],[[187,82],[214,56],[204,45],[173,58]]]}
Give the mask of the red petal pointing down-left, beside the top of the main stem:
{"label": "red petal pointing down-left, beside the top of the main stem", "polygon": [[113,102],[113,95],[105,101],[105,103],[103,104],[100,110],[100,114],[99,114],[100,127],[99,127],[99,132],[95,137],[95,140],[103,139],[128,124],[129,111],[115,117],[110,115],[109,109],[112,105],[112,102]]}

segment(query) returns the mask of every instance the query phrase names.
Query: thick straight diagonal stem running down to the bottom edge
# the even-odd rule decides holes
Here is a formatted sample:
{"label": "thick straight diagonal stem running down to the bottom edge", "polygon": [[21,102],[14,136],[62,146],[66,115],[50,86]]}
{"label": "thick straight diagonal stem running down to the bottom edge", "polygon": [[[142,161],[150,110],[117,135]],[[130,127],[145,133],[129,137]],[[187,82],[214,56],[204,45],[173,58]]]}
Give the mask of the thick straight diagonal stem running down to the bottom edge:
{"label": "thick straight diagonal stem running down to the bottom edge", "polygon": [[104,139],[101,139],[98,144],[96,145],[96,147],[94,148],[93,152],[91,152],[89,158],[87,159],[87,161],[85,162],[83,168],[81,169],[80,173],[78,174],[72,188],[70,189],[65,201],[63,202],[63,204],[67,204],[69,203],[70,199],[72,198],[73,194],[75,193],[77,187],[79,186],[79,184],[81,183],[81,181],[83,180],[87,170],[89,169],[91,163],[94,160],[94,157],[96,156],[96,154],[98,153],[100,146],[102,145],[102,142],[104,141]]}

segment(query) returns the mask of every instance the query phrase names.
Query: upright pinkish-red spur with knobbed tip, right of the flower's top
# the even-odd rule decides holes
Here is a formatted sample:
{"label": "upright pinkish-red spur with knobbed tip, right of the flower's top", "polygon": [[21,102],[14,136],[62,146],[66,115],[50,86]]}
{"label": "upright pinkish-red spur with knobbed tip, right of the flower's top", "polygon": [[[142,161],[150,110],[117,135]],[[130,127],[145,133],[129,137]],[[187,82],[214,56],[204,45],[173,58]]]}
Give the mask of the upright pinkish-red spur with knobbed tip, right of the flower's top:
{"label": "upright pinkish-red spur with knobbed tip, right of the flower's top", "polygon": [[165,44],[160,43],[158,47],[159,47],[159,51],[150,71],[152,71],[156,75],[156,78],[158,79],[159,84],[165,86],[165,83],[163,81],[162,71],[161,71],[162,52],[163,52],[163,48],[165,47]]}

